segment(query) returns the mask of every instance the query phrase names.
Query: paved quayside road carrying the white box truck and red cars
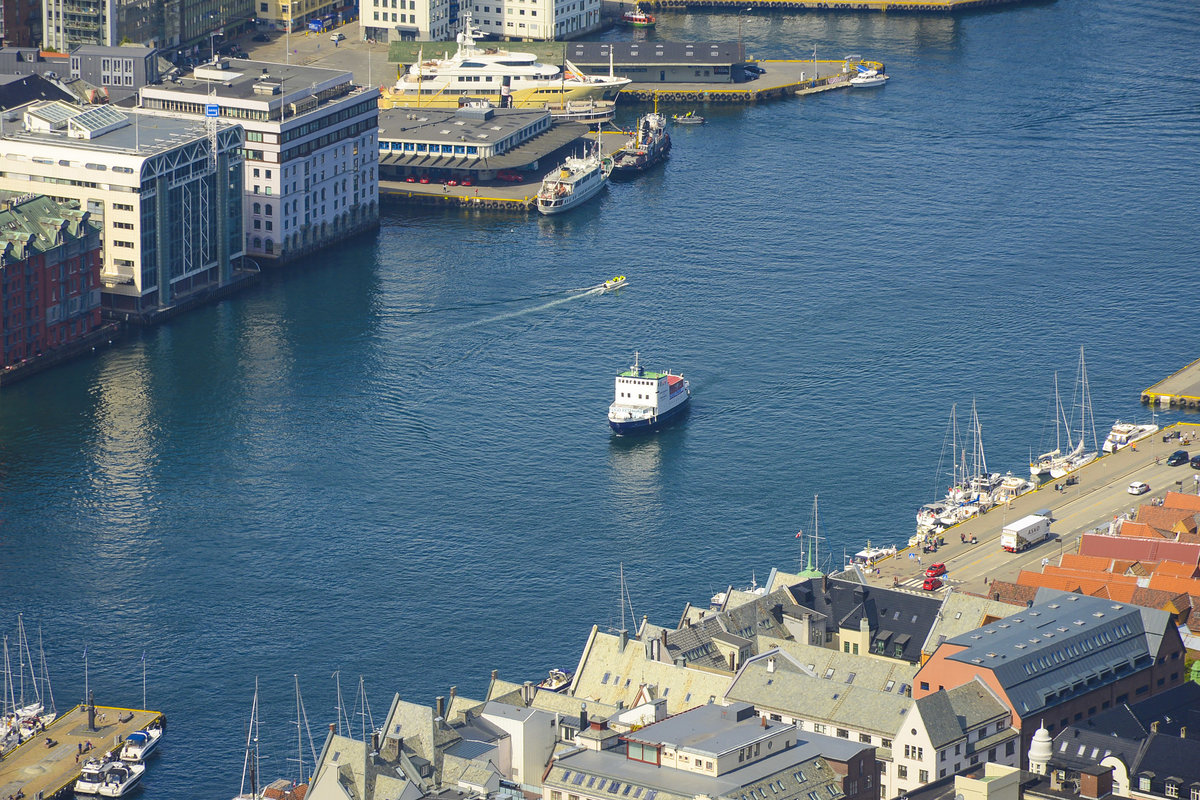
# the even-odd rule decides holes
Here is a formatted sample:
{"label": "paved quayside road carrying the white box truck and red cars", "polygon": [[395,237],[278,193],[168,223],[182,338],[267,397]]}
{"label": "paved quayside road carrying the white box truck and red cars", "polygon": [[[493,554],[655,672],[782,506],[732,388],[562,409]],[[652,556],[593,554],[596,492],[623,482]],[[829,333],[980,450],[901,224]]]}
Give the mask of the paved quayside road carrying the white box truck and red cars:
{"label": "paved quayside road carrying the white box truck and red cars", "polygon": [[[1172,433],[1180,434],[1178,438],[1163,441],[1164,435]],[[1057,564],[1063,553],[1075,552],[1081,534],[1097,528],[1106,530],[1114,517],[1135,511],[1139,505],[1162,498],[1168,491],[1200,492],[1200,471],[1187,464],[1168,467],[1165,463],[1168,455],[1188,447],[1182,444],[1186,440],[1200,446],[1200,425],[1169,426],[1136,443],[1136,450],[1126,447],[1076,470],[1073,475],[1078,482],[1073,486],[1066,486],[1064,480],[1050,481],[1007,505],[960,523],[944,533],[946,545],[934,553],[922,553],[920,547],[902,548],[878,561],[878,575],[868,575],[868,582],[881,587],[899,584],[920,593],[925,569],[942,563],[947,569],[942,581],[948,589],[985,594],[994,579],[1015,581],[1021,570],[1040,571],[1043,559]],[[1150,493],[1129,494],[1127,489],[1132,481],[1145,481],[1150,485]],[[1061,491],[1055,491],[1055,483],[1062,487]],[[1051,536],[1046,541],[1020,553],[1001,549],[1000,531],[1004,524],[1042,510],[1049,510],[1054,519]],[[916,517],[917,510],[912,511]],[[978,543],[962,543],[960,534],[968,541],[976,536]],[[908,535],[905,533],[905,539]],[[878,540],[872,537],[871,543],[878,547],[889,542],[881,536]]]}

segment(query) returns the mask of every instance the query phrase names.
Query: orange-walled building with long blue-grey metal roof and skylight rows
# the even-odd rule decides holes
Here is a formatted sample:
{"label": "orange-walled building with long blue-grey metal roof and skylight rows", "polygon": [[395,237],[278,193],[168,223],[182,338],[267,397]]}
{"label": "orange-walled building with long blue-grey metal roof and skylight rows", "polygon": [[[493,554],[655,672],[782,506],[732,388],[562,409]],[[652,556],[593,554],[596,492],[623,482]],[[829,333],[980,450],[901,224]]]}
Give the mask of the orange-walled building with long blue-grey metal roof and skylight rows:
{"label": "orange-walled building with long blue-grey metal roof and skylight rows", "polygon": [[1030,608],[938,645],[917,673],[913,697],[978,675],[1008,706],[1024,758],[1039,723],[1052,735],[1178,686],[1183,655],[1166,612],[1042,590]]}

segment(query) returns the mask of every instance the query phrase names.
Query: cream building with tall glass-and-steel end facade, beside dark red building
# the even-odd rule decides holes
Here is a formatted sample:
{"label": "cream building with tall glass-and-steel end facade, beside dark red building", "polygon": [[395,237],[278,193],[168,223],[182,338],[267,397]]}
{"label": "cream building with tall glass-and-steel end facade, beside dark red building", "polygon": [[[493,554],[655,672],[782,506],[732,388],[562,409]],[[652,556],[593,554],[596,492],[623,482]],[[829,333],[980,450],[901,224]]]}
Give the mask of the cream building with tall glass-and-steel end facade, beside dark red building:
{"label": "cream building with tall glass-and-steel end facade, beside dark red building", "polygon": [[0,190],[78,201],[102,225],[106,311],[152,317],[233,282],[241,126],[48,102],[0,142]]}

